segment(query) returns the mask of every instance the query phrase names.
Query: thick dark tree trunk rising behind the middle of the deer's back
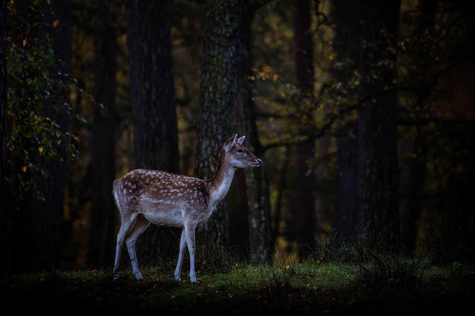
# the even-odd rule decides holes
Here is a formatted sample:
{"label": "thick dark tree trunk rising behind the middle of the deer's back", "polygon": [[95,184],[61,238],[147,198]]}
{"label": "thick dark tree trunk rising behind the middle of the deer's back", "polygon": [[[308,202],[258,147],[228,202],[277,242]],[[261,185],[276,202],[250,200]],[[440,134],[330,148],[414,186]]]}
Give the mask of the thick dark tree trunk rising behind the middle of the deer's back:
{"label": "thick dark tree trunk rising behind the middle of the deer's back", "polygon": [[[126,0],[135,166],[179,172],[177,116],[168,1]],[[139,258],[171,250],[176,228],[151,225],[138,239]]]}

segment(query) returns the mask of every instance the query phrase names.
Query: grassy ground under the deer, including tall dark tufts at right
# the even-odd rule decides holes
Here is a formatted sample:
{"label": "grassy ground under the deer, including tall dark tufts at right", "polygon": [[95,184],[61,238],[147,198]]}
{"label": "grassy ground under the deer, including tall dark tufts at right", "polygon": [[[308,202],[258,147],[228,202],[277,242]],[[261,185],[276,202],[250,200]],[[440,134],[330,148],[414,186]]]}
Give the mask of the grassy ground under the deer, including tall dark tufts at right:
{"label": "grassy ground under the deer, including tall dark tufts at right", "polygon": [[142,265],[140,281],[127,263],[118,280],[107,269],[3,274],[0,295],[18,311],[68,315],[471,315],[475,230],[454,218],[428,222],[422,253],[356,226],[326,232],[302,262],[256,264],[203,242],[197,284],[185,270],[176,281],[177,258],[168,255]]}

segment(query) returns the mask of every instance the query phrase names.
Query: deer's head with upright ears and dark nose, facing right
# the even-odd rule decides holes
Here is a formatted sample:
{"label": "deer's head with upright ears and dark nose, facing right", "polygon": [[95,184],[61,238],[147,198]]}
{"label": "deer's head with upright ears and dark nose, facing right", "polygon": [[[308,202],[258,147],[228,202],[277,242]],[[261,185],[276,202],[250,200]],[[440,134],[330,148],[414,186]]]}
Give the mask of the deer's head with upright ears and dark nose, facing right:
{"label": "deer's head with upright ears and dark nose, facing right", "polygon": [[221,150],[221,157],[229,163],[232,167],[247,168],[258,167],[261,164],[261,160],[244,148],[242,142],[246,136],[242,136],[239,139],[237,134],[234,137],[228,139]]}

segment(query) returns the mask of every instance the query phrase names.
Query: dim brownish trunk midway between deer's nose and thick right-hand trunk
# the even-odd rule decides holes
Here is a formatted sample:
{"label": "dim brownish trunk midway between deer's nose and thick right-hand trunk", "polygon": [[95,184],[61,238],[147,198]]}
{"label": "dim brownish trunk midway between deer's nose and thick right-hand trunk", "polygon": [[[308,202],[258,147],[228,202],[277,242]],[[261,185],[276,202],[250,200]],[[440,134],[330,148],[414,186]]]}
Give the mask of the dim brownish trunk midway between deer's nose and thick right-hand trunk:
{"label": "dim brownish trunk midway between deer's nose and thick right-hand trunk", "polygon": [[[295,74],[297,87],[301,90],[301,101],[297,105],[303,111],[300,102],[312,98],[314,86],[313,44],[311,32],[310,1],[293,0],[294,39],[295,39]],[[289,164],[289,189],[287,196],[288,211],[292,214],[292,224],[299,254],[308,252],[314,246],[315,234],[315,176],[306,175],[308,161],[314,157],[315,144],[305,144],[291,149]],[[292,189],[291,189],[292,188]]]}

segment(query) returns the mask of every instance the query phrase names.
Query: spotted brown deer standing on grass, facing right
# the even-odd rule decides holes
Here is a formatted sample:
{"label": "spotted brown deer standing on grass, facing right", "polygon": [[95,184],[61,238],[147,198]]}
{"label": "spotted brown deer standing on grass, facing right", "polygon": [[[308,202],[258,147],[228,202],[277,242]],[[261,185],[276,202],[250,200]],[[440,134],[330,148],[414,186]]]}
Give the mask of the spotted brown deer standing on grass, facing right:
{"label": "spotted brown deer standing on grass, facing right", "polygon": [[114,276],[117,277],[123,243],[127,245],[133,274],[142,279],[135,254],[135,241],[150,223],[182,227],[175,279],[180,279],[186,247],[190,252],[190,280],[196,282],[195,228],[206,222],[218,202],[228,193],[236,168],[257,167],[261,161],[242,146],[246,136],[237,134],[221,149],[218,165],[209,180],[158,170],[137,169],[114,181],[114,197],[121,215],[117,235]]}

